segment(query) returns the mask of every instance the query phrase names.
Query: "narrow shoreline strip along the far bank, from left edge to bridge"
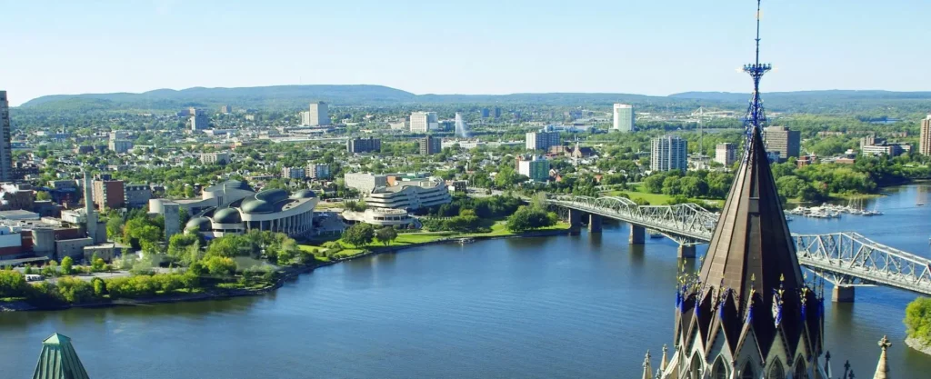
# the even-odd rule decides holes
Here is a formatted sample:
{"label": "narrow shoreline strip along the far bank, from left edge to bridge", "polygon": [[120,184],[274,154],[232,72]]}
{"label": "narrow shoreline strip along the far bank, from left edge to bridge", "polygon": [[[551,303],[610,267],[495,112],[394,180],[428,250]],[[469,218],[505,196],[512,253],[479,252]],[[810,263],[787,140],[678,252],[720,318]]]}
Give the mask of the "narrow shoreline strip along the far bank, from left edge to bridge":
{"label": "narrow shoreline strip along the far bank, from left edge to bridge", "polygon": [[[509,235],[509,236],[478,236],[478,237],[469,237],[476,241],[492,240],[492,239],[506,239],[506,238],[521,238],[521,237],[554,237],[554,236],[568,236],[571,231],[569,229],[560,229],[560,230],[543,230],[535,232],[527,232],[519,235]],[[191,293],[191,294],[174,294],[174,295],[165,295],[165,296],[156,296],[150,298],[141,298],[141,299],[117,299],[105,302],[94,302],[94,303],[84,303],[78,305],[61,305],[61,306],[47,306],[39,307],[34,305],[29,305],[24,301],[14,302],[9,304],[0,304],[0,313],[3,312],[23,312],[23,311],[58,311],[66,310],[69,308],[109,308],[115,306],[137,306],[137,305],[150,305],[150,304],[166,304],[166,303],[185,303],[185,302],[201,302],[209,300],[222,300],[229,299],[234,297],[241,296],[257,296],[262,295],[271,291],[276,291],[277,289],[284,286],[284,284],[292,279],[295,279],[302,274],[307,274],[314,272],[317,268],[326,267],[333,264],[339,264],[345,261],[352,261],[364,257],[369,257],[377,254],[384,254],[387,252],[398,252],[400,250],[407,250],[412,248],[421,248],[430,245],[439,245],[439,244],[449,244],[455,243],[459,238],[441,238],[435,241],[429,242],[420,242],[412,243],[410,245],[398,245],[398,246],[385,246],[375,249],[371,249],[362,254],[354,255],[348,258],[339,259],[330,262],[323,262],[320,264],[314,265],[304,265],[299,267],[287,267],[282,270],[281,275],[277,278],[275,283],[263,287],[261,289],[255,290],[228,290],[228,291],[205,291],[201,293]],[[6,306],[5,306],[6,305]]]}

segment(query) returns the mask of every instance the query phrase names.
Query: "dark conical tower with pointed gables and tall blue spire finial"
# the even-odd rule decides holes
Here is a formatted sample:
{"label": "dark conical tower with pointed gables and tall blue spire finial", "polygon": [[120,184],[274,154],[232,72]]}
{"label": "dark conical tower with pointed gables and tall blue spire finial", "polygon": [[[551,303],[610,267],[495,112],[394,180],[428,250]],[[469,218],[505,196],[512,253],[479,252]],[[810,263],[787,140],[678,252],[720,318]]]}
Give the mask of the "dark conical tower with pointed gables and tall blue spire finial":
{"label": "dark conical tower with pointed gables and tall blue spire finial", "polygon": [[759,0],[756,62],[740,168],[701,270],[680,277],[664,378],[822,379],[823,289],[805,283],[762,141]]}

